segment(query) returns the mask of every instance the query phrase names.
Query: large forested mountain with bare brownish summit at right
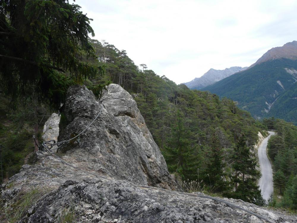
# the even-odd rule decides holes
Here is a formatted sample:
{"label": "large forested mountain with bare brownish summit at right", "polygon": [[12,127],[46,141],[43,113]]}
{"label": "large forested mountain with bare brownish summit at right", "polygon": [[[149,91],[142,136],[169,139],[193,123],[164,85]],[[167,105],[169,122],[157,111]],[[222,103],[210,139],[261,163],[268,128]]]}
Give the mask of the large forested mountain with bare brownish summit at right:
{"label": "large forested mountain with bare brownish summit at right", "polygon": [[255,118],[282,118],[297,124],[297,41],[267,51],[247,70],[202,90],[237,101]]}

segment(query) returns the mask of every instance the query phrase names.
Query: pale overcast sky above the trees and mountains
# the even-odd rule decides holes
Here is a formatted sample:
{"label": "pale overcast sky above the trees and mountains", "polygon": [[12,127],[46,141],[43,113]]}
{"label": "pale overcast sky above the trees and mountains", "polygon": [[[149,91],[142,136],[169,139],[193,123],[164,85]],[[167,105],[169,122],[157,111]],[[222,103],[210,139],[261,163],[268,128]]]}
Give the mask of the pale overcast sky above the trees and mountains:
{"label": "pale overcast sky above the trees and mountains", "polygon": [[177,84],[210,68],[249,66],[297,40],[297,1],[76,0],[94,39]]}

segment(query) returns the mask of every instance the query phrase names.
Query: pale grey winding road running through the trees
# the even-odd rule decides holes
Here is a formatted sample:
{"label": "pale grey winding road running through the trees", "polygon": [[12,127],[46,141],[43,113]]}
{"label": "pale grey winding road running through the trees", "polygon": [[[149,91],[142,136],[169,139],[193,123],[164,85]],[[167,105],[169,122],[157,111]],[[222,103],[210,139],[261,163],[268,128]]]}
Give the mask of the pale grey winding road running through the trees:
{"label": "pale grey winding road running through the trees", "polygon": [[260,163],[260,169],[262,177],[259,180],[258,186],[260,186],[262,197],[265,200],[270,198],[270,195],[273,193],[273,175],[272,175],[272,168],[271,163],[267,157],[266,147],[267,142],[270,136],[274,135],[275,133],[272,131],[268,131],[269,136],[267,136],[259,146],[258,149],[258,158]]}

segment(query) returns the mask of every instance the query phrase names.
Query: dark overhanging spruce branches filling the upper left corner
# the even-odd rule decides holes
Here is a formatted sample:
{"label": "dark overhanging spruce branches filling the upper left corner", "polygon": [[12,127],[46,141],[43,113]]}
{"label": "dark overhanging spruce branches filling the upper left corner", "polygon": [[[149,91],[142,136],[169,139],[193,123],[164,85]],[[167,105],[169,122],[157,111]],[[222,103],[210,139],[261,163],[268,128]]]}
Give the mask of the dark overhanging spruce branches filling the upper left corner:
{"label": "dark overhanging spruce branches filling the upper left corner", "polygon": [[94,35],[90,20],[80,6],[67,0],[1,0],[4,92],[14,102],[29,98],[60,106],[71,84],[102,70],[80,61],[83,51],[94,55],[88,41],[89,33]]}

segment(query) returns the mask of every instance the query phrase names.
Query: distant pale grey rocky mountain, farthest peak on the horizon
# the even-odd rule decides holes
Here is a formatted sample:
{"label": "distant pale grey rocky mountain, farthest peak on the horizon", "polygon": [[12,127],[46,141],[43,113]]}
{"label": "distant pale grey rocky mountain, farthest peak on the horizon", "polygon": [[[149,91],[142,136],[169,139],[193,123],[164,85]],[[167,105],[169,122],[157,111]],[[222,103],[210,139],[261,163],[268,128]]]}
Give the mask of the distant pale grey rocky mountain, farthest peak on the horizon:
{"label": "distant pale grey rocky mountain, farthest peak on the horizon", "polygon": [[203,76],[199,78],[196,77],[194,80],[184,84],[190,89],[200,90],[203,87],[211,85],[217,81],[220,81],[234,73],[237,73],[245,69],[247,69],[247,67],[230,67],[226,68],[225,70],[215,70],[211,68],[205,74],[203,74]]}

